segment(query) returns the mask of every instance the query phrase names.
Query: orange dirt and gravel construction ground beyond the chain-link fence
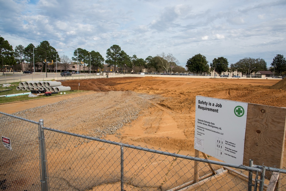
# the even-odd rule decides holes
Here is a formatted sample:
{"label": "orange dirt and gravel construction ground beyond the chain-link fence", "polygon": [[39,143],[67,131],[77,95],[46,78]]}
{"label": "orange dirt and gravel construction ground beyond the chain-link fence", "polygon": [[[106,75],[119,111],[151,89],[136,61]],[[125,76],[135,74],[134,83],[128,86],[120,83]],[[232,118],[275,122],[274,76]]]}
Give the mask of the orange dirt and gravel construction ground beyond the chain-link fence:
{"label": "orange dirt and gravel construction ground beyond the chain-link fence", "polygon": [[[0,105],[0,111],[10,114],[18,112],[21,117],[34,121],[44,119],[45,127],[98,136],[92,134],[95,124],[89,119],[101,115],[101,112],[112,114],[112,108],[117,110],[120,105],[129,107],[123,102],[127,100],[130,105],[134,100],[134,105],[130,107],[135,108],[138,117],[128,119],[116,132],[102,134],[100,137],[130,145],[146,145],[148,148],[170,153],[180,151],[182,155],[194,156],[197,95],[286,107],[286,79],[122,77],[66,80],[61,83],[63,86],[70,86],[71,90],[88,92],[46,97],[29,103]],[[64,107],[55,107],[55,104],[49,110],[37,113],[31,110],[69,99],[72,101],[60,104]],[[111,110],[107,109],[108,105]],[[114,119],[116,117],[111,116]],[[109,123],[108,121],[100,121],[100,127],[104,126],[102,123]],[[64,125],[71,123],[73,125]],[[283,166],[286,166],[285,160]]]}

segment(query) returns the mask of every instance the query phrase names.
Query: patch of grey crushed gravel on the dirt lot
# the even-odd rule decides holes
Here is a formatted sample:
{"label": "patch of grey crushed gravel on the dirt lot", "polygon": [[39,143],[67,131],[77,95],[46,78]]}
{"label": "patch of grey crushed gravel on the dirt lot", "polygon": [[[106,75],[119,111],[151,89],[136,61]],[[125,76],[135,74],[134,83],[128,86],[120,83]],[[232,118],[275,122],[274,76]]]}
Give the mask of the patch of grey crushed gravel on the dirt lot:
{"label": "patch of grey crushed gravel on the dirt lot", "polygon": [[159,98],[132,91],[99,92],[13,115],[34,121],[44,119],[45,127],[100,138],[114,134],[124,124],[136,120]]}

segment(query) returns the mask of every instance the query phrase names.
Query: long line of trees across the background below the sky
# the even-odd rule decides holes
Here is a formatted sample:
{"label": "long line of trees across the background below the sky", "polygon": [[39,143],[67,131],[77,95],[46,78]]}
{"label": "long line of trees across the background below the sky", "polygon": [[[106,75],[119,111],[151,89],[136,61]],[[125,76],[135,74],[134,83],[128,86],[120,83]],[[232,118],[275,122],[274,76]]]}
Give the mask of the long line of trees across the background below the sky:
{"label": "long line of trees across the background below the sky", "polygon": [[[74,48],[74,47],[72,47]],[[133,72],[164,72],[164,73],[196,73],[196,74],[209,74],[214,72],[221,74],[223,72],[238,71],[243,75],[251,75],[253,72],[259,70],[267,70],[267,63],[262,58],[243,58],[235,64],[230,64],[227,58],[218,57],[214,58],[210,64],[206,57],[201,54],[196,54],[189,58],[186,62],[186,69],[180,66],[177,58],[172,54],[157,54],[156,56],[148,56],[147,58],[138,58],[136,55],[129,56],[121,47],[113,45],[106,51],[106,59],[102,57],[99,52],[94,50],[88,52],[82,48],[74,48],[74,55],[70,59],[68,56],[59,56],[57,50],[52,47],[48,41],[43,41],[36,47],[29,44],[27,47],[22,45],[16,46],[13,50],[12,46],[7,40],[0,36],[0,56],[2,65],[14,66],[19,64],[23,70],[23,62],[29,63],[30,70],[35,64],[35,71],[43,70],[54,71],[55,65],[53,62],[61,62],[64,70],[69,70],[70,63],[78,63],[80,66],[90,67],[91,71],[98,72],[104,69],[104,63],[107,64],[108,70],[112,71],[133,71]],[[4,64],[5,63],[5,64]],[[44,63],[44,64],[43,64]],[[47,68],[46,68],[47,66]],[[3,68],[2,68],[3,69]],[[277,54],[273,58],[270,71],[276,75],[286,74],[286,60],[283,55]]]}

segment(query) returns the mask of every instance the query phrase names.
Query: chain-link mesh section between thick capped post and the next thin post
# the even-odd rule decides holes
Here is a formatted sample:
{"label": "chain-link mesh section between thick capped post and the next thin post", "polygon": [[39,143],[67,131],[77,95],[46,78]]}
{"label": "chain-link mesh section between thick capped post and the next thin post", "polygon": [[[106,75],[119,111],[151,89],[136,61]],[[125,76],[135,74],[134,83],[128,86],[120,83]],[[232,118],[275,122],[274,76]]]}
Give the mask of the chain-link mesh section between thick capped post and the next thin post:
{"label": "chain-link mesh section between thick capped post and the next thin post", "polygon": [[45,140],[50,190],[109,190],[120,182],[120,146],[53,131]]}

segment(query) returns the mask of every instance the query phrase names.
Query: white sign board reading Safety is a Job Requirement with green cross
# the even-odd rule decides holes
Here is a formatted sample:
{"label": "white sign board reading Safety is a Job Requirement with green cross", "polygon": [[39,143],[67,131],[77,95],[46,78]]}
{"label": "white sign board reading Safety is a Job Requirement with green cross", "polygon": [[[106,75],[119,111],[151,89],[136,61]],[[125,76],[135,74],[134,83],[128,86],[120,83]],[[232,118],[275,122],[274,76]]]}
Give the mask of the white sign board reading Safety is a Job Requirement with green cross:
{"label": "white sign board reading Safety is a Job Requirement with green cross", "polygon": [[242,165],[247,107],[243,102],[196,96],[194,148]]}

